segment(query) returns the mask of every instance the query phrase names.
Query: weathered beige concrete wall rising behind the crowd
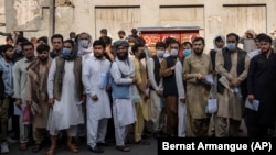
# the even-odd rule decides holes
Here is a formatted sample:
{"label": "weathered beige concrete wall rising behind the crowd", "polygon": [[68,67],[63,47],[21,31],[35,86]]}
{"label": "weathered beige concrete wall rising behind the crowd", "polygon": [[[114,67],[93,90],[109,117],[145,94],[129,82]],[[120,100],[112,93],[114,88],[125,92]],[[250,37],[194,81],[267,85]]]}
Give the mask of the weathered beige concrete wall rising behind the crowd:
{"label": "weathered beige concrete wall rising behind the crowd", "polygon": [[[49,1],[6,2],[6,19],[17,19],[7,20],[7,31],[25,29],[26,37],[49,34]],[[23,11],[14,3],[21,3]],[[65,38],[71,31],[88,32],[97,38],[106,27],[117,40],[118,30],[130,34],[132,27],[191,25],[202,27],[200,35],[209,51],[217,34],[243,35],[247,29],[270,33],[276,29],[276,0],[56,0],[55,5],[55,33]]]}

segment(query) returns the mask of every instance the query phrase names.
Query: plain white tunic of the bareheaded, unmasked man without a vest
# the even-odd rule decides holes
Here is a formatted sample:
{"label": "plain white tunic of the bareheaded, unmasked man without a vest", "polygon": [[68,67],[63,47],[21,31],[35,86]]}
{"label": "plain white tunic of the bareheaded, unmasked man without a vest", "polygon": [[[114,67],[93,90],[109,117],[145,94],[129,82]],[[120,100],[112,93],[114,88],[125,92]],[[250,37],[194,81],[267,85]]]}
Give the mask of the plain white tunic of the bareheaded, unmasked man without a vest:
{"label": "plain white tunic of the bareheaded, unmasked man without a vest", "polygon": [[[93,117],[96,120],[104,118],[112,118],[110,100],[106,92],[106,85],[103,87],[103,82],[107,84],[107,76],[110,70],[110,62],[103,58],[97,59],[91,57],[84,63],[83,66],[83,85],[87,95],[87,111],[88,117]],[[92,100],[92,97],[97,95],[98,100]]]}

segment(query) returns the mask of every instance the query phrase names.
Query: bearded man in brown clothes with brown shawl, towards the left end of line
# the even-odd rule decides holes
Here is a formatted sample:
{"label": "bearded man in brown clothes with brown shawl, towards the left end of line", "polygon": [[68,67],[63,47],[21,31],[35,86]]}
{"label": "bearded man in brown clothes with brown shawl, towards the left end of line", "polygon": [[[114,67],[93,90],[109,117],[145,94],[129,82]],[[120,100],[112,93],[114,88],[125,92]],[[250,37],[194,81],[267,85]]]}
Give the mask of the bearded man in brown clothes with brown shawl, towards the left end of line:
{"label": "bearded man in brown clothes with brown shawl, towards the left end of line", "polygon": [[28,69],[28,79],[25,88],[25,100],[34,110],[32,118],[32,132],[35,144],[32,152],[39,152],[42,148],[42,141],[46,135],[49,97],[47,97],[47,73],[51,65],[49,59],[50,46],[40,44],[36,47],[38,59],[31,64]]}

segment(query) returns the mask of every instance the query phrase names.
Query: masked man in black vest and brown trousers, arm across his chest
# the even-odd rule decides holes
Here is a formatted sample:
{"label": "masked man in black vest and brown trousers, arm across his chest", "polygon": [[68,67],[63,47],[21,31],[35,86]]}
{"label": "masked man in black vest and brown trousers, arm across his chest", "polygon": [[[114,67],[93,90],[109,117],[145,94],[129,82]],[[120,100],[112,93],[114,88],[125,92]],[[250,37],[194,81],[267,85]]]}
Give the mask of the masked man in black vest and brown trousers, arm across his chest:
{"label": "masked man in black vest and brown trousers, arm across his chest", "polygon": [[160,77],[163,78],[163,97],[167,112],[167,134],[178,135],[178,87],[176,78],[176,64],[178,62],[179,43],[172,41],[169,44],[170,56],[161,62]]}

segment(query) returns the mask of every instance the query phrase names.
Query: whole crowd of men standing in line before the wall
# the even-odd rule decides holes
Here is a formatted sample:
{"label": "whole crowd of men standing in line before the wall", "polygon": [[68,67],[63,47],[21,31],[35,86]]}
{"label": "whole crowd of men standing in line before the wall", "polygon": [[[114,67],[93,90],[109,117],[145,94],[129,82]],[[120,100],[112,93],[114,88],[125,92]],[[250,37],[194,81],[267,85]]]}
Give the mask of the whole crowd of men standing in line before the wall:
{"label": "whole crowd of men standing in line before the wall", "polygon": [[47,155],[56,153],[60,135],[71,152],[79,152],[74,140],[84,136],[92,152],[103,153],[108,133],[116,150],[129,152],[131,140],[150,144],[146,132],[205,137],[211,128],[215,137],[237,137],[243,119],[248,136],[275,131],[276,55],[268,35],[217,35],[211,52],[203,37],[168,37],[152,54],[131,32],[119,31],[117,41],[105,29],[95,41],[85,32],[68,40],[54,34],[52,48],[46,36],[15,44],[8,36],[0,58],[1,153],[9,152],[9,120],[21,151],[33,141],[32,152],[40,152],[50,137]]}

